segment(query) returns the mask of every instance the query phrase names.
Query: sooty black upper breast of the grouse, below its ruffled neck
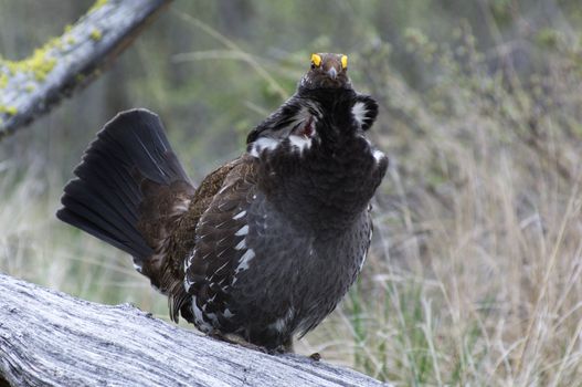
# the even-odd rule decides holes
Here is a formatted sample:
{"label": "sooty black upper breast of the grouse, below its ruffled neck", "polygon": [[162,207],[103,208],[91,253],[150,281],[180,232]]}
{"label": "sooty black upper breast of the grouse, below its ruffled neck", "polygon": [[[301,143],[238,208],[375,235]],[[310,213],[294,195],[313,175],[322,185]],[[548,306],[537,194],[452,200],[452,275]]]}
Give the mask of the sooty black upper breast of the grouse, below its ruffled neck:
{"label": "sooty black upper breast of the grouse, below its ruffled neck", "polygon": [[363,136],[307,149],[279,144],[257,158],[258,189],[288,221],[305,229],[346,229],[368,207],[388,166]]}

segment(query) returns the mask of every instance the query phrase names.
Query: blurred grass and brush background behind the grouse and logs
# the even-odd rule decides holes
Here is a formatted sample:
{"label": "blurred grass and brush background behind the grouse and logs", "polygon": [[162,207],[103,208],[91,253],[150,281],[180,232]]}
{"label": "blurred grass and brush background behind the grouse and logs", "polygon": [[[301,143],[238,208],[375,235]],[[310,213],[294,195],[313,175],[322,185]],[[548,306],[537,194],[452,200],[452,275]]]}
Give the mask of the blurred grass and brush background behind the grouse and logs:
{"label": "blurred grass and brush background behind the grouse and logs", "polygon": [[[20,60],[91,0],[0,0]],[[86,90],[0,142],[0,271],[168,320],[127,254],[59,222],[117,112],[157,112],[194,181],[244,151],[311,52],[349,55],[391,158],[357,285],[301,354],[398,386],[582,386],[580,0],[176,0]],[[1,90],[0,90],[1,92]]]}

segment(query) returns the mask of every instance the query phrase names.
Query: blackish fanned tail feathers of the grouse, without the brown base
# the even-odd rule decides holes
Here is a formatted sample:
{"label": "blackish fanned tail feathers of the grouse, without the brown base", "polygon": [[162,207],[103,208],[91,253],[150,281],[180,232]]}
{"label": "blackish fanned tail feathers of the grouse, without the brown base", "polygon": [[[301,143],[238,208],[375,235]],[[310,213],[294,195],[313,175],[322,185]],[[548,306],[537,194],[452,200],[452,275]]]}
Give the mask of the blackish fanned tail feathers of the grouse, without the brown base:
{"label": "blackish fanned tail feathers of the grouse, without the brown base", "polygon": [[138,228],[149,195],[144,187],[179,180],[190,187],[160,119],[146,109],[120,113],[107,123],[74,174],[56,217],[128,252],[137,263],[156,248]]}

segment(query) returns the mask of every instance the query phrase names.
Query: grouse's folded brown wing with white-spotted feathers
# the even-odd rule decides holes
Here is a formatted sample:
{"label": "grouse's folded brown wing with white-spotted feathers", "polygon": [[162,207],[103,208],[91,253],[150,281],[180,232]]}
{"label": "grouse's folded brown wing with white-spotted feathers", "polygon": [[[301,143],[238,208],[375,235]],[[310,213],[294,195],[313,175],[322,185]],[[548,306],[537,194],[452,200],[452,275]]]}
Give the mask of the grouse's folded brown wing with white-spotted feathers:
{"label": "grouse's folded brown wing with white-spotted feathers", "polygon": [[[215,314],[215,308],[224,304],[236,262],[246,252],[244,232],[246,209],[256,189],[256,163],[251,157],[242,157],[222,170],[212,181],[212,189],[201,191],[197,208],[201,213],[195,222],[195,241],[192,249],[183,254],[186,294],[194,296],[200,308],[207,314]],[[210,182],[209,180],[209,182]],[[204,184],[200,187],[203,189]],[[177,297],[173,310],[182,310],[189,297]],[[188,313],[188,310],[182,311]],[[223,312],[223,311],[222,311]],[[187,316],[188,318],[188,316]],[[204,328],[203,321],[197,316],[195,324]]]}

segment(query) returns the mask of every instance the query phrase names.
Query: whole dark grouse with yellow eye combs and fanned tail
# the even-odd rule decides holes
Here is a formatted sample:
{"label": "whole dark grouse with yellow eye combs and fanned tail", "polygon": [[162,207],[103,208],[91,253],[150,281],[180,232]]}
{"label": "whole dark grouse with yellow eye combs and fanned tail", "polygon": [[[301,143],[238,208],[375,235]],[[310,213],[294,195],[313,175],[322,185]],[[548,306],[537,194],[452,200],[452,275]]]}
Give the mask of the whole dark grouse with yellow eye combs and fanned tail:
{"label": "whole dark grouse with yellow eye combs and fanned tail", "polygon": [[348,59],[311,55],[296,93],[197,189],[157,115],[119,113],[85,151],[59,219],[134,257],[199,330],[269,351],[317,326],[358,275],[388,158]]}

